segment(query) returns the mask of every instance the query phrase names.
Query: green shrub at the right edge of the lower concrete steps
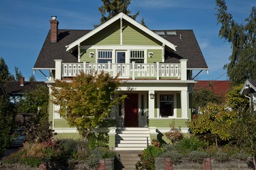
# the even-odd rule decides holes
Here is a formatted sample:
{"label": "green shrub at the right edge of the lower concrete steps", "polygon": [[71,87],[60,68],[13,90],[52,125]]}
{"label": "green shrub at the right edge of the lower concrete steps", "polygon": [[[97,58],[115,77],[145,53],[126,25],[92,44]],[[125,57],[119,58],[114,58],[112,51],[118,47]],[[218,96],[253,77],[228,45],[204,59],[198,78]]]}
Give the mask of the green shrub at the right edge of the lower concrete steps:
{"label": "green shrub at the right edge of the lower concrete steps", "polygon": [[139,154],[140,160],[135,165],[137,169],[155,169],[154,158],[162,154],[164,150],[162,148],[148,146],[141,154]]}

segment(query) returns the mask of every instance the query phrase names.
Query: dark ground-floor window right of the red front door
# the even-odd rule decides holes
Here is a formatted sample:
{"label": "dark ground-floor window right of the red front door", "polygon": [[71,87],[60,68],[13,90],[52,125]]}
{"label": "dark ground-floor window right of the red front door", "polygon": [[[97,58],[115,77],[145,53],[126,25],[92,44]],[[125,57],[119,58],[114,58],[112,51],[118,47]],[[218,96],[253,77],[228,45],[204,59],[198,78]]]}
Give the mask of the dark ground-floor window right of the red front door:
{"label": "dark ground-floor window right of the red front door", "polygon": [[173,116],[173,95],[160,95],[160,116]]}

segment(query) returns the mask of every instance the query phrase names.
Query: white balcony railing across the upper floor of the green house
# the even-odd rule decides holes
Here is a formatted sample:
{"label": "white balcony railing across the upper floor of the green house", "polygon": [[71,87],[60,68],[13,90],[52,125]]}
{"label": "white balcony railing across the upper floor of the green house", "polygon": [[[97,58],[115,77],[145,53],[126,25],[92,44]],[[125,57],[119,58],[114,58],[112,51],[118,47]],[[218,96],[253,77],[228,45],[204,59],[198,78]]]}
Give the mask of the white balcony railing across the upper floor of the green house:
{"label": "white balcony railing across the upper floor of the green house", "polygon": [[123,79],[143,79],[150,78],[181,78],[180,63],[62,63],[62,77],[74,77],[81,71],[94,73],[95,71],[106,71],[111,76],[119,73],[119,78]]}

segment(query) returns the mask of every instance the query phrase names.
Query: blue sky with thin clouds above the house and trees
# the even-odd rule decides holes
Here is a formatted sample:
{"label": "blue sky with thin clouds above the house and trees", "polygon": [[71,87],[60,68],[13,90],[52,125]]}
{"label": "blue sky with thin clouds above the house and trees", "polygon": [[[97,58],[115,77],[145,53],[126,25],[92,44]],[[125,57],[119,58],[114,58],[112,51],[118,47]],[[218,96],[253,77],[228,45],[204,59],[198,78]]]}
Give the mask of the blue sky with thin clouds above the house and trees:
{"label": "blue sky with thin clouds above the house and trees", "polygon": [[[255,0],[226,0],[228,12],[237,22],[244,22]],[[51,16],[57,16],[59,29],[94,29],[100,22],[100,0],[1,0],[0,57],[14,73],[18,67],[26,80],[50,28]],[[139,11],[149,29],[193,29],[209,67],[197,80],[216,80],[225,73],[230,44],[218,37],[214,0],[132,0],[129,10]],[[195,75],[195,73],[194,73]],[[38,81],[46,80],[35,72]],[[223,75],[218,80],[227,80]]]}

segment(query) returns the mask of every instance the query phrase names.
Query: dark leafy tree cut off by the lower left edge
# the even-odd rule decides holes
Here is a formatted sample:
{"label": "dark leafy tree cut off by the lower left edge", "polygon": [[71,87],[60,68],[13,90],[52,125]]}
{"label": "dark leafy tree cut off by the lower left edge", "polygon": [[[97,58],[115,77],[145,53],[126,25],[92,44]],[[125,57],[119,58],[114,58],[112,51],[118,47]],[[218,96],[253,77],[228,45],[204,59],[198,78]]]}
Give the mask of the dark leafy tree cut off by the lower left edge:
{"label": "dark leafy tree cut off by the lower left edge", "polygon": [[0,95],[0,158],[10,143],[10,132],[14,124],[14,109],[8,99]]}

